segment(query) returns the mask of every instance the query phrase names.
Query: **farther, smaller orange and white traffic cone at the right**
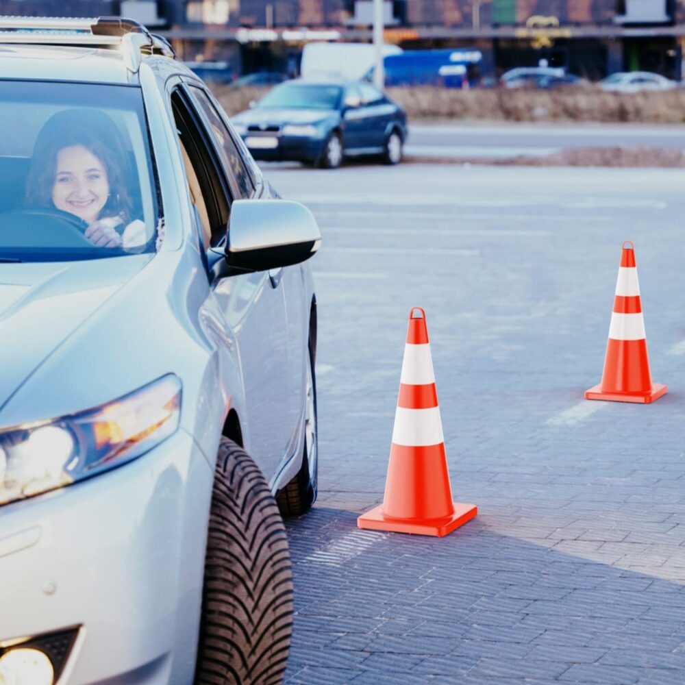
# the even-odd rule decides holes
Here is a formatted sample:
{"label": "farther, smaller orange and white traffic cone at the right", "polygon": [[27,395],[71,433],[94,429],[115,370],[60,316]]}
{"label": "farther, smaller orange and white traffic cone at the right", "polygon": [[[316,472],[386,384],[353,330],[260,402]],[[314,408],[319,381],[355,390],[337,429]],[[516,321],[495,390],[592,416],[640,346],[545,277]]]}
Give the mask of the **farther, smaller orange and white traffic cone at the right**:
{"label": "farther, smaller orange and white traffic cone at the right", "polygon": [[666,391],[666,386],[651,382],[635,246],[626,240],[621,253],[601,383],[586,390],[585,399],[649,404],[666,395]]}

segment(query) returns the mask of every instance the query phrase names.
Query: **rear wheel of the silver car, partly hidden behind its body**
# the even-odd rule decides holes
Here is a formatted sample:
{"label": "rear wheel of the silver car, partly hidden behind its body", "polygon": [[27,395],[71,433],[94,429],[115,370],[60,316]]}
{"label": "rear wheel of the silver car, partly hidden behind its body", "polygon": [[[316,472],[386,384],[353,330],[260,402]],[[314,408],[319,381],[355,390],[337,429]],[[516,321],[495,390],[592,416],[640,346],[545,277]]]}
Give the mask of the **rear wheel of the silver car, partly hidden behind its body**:
{"label": "rear wheel of the silver car, partly hidden behind its body", "polygon": [[309,342],[309,364],[305,388],[304,447],[302,464],[297,475],[281,490],[276,498],[278,508],[284,516],[306,514],[316,501],[319,482],[319,436],[316,413],[316,376],[314,375],[314,354],[312,340]]}

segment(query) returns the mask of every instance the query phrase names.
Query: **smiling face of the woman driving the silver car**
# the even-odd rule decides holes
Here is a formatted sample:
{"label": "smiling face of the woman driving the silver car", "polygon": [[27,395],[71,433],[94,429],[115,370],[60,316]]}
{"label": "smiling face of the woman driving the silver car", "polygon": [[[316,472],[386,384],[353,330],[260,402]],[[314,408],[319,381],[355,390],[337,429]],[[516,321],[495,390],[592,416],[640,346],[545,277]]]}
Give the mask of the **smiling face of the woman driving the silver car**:
{"label": "smiling face of the woman driving the silver car", "polygon": [[52,201],[58,210],[95,221],[110,194],[105,165],[83,145],[63,147],[57,153]]}

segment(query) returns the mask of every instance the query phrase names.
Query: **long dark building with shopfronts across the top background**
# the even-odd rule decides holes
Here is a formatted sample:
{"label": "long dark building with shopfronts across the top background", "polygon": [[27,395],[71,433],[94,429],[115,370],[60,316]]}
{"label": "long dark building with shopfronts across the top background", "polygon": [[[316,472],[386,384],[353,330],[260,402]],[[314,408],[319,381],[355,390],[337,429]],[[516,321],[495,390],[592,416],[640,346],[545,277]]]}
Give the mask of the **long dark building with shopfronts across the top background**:
{"label": "long dark building with shopfronts across the top background", "polygon": [[[291,75],[309,40],[371,40],[372,9],[372,0],[0,0],[2,14],[132,16],[185,60]],[[682,76],[685,0],[386,0],[384,12],[388,42],[474,47],[484,73],[547,60],[590,78]]]}

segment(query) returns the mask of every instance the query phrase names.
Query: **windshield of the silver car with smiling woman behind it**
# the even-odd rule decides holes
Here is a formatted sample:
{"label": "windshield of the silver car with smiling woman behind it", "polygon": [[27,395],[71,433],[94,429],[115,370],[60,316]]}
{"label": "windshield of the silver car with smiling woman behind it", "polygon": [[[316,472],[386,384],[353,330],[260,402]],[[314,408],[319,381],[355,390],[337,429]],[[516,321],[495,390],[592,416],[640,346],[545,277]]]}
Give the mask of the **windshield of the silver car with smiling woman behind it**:
{"label": "windshield of the silver car with smiling woman behind it", "polygon": [[0,79],[0,130],[0,262],[155,250],[140,88]]}

